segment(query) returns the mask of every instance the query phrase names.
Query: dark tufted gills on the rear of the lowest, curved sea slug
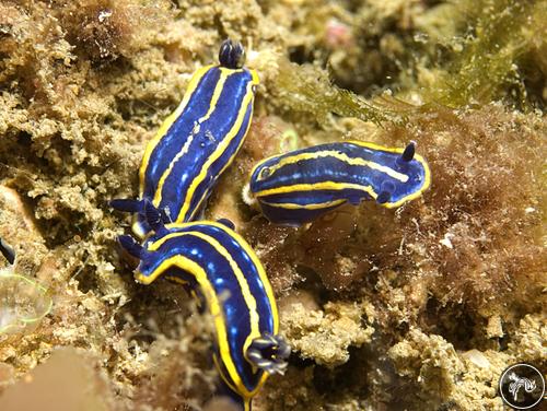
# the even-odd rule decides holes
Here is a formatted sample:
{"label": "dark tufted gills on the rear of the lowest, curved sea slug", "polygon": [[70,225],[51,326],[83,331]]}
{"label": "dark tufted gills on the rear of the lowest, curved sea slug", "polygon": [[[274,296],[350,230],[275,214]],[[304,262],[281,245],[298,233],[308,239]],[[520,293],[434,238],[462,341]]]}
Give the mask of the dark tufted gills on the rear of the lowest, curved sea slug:
{"label": "dark tufted gills on the rear of the lowest, curved sea slug", "polygon": [[280,334],[264,332],[247,349],[247,360],[268,374],[284,374],[291,348]]}

